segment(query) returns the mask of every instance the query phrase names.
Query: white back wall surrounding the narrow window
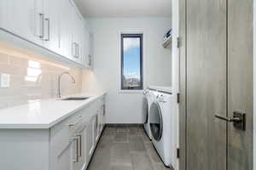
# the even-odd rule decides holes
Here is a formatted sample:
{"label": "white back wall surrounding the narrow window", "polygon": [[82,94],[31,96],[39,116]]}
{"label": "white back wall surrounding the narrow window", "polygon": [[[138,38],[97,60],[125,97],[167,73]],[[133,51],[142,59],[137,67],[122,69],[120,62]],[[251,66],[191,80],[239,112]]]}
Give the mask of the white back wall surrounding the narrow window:
{"label": "white back wall surrounding the narrow window", "polygon": [[162,48],[171,18],[90,19],[94,33],[94,71],[84,71],[83,92],[108,92],[108,123],[142,123],[142,91],[120,91],[120,33],[143,33],[144,87],[172,85],[172,53]]}

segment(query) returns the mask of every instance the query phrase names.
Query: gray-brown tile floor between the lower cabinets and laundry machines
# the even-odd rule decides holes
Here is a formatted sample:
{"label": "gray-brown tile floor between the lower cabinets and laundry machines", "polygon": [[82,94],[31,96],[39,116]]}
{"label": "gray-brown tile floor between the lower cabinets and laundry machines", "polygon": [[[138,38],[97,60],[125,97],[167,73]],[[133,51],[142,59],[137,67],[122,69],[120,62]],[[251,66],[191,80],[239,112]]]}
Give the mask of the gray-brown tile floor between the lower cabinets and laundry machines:
{"label": "gray-brown tile floor between the lower cabinets and laundry machines", "polygon": [[170,170],[143,127],[106,127],[89,170]]}

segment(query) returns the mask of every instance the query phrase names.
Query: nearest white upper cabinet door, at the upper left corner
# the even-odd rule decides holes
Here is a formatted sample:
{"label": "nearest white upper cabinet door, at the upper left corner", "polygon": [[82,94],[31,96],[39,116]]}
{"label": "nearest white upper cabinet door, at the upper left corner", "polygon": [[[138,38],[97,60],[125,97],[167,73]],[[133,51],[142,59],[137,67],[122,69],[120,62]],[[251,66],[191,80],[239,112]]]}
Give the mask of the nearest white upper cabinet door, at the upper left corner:
{"label": "nearest white upper cabinet door, at the upper left corner", "polygon": [[[7,28],[30,42],[42,45],[43,0],[9,0],[11,23]],[[7,22],[3,22],[7,23]]]}

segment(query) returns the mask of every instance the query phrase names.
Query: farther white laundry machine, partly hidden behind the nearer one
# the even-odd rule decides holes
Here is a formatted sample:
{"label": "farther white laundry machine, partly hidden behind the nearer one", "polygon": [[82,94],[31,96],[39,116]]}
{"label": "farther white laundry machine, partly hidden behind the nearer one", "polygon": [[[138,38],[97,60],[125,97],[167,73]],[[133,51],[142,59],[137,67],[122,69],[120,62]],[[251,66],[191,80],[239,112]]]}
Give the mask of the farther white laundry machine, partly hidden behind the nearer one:
{"label": "farther white laundry machine, partly hidden behind the nearer one", "polygon": [[150,132],[150,126],[149,126],[149,108],[152,105],[154,101],[154,91],[146,89],[143,93],[143,127],[145,129],[145,132],[148,135],[148,138],[151,140],[152,135]]}

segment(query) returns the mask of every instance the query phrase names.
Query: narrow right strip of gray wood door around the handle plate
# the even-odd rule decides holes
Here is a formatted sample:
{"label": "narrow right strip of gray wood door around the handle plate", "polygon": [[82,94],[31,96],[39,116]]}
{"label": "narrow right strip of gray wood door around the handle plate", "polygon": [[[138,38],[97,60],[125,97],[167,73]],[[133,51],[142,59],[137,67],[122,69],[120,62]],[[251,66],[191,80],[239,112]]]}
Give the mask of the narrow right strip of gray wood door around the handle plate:
{"label": "narrow right strip of gray wood door around the handle plate", "polygon": [[228,6],[228,116],[246,113],[246,130],[228,123],[228,169],[253,170],[253,0]]}

